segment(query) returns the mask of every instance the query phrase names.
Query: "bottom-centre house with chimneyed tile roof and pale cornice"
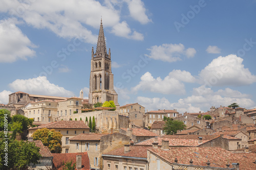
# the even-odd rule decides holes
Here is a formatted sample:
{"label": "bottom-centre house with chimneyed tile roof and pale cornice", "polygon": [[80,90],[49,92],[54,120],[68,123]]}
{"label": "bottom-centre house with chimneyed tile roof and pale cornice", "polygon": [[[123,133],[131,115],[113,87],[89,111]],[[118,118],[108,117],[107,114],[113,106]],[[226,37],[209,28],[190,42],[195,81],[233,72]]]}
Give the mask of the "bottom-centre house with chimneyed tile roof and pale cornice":
{"label": "bottom-centre house with chimneyed tile roof and pale cornice", "polygon": [[126,144],[124,147],[102,154],[103,170],[146,170],[147,149],[151,146]]}

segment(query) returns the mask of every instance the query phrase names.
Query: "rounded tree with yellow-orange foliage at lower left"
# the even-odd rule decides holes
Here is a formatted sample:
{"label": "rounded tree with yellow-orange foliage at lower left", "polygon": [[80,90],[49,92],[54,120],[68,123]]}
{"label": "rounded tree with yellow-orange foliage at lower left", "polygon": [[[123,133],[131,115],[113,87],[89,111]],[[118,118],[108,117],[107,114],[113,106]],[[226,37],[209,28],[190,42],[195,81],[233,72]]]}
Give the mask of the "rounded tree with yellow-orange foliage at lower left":
{"label": "rounded tree with yellow-orange foliage at lower left", "polygon": [[49,148],[51,153],[61,152],[61,133],[56,132],[54,129],[37,129],[33,135],[33,140],[41,140],[42,143]]}

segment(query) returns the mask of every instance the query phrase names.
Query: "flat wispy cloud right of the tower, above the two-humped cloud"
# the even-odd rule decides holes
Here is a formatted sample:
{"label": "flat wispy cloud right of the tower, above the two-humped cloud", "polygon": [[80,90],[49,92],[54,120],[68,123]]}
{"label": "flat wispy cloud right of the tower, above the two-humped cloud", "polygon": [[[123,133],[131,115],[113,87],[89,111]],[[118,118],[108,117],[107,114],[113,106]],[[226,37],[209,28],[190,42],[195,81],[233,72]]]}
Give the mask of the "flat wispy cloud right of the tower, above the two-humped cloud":
{"label": "flat wispy cloud right of the tower, above the two-humped cloud", "polygon": [[185,49],[184,45],[179,44],[162,44],[154,45],[147,48],[151,53],[147,57],[155,60],[162,60],[167,62],[175,62],[181,60],[181,56],[185,55],[187,58],[194,57],[196,54],[195,48]]}

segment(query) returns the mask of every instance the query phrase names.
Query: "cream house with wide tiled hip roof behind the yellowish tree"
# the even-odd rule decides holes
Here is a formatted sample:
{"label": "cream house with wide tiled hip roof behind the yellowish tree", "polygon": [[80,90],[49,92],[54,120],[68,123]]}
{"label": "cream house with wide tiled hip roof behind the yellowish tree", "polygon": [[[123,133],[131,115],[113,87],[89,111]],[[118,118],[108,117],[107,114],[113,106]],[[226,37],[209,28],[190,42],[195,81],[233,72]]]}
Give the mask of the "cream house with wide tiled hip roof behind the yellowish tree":
{"label": "cream house with wide tiled hip roof behind the yellowish tree", "polygon": [[70,142],[69,139],[77,136],[81,133],[90,133],[90,128],[81,120],[79,121],[66,121],[61,120],[59,122],[51,122],[48,124],[44,124],[41,126],[37,126],[34,128],[28,129],[29,137],[32,137],[33,133],[37,129],[47,128],[49,130],[54,129],[56,132],[60,132],[62,134],[61,138],[61,153],[70,153]]}

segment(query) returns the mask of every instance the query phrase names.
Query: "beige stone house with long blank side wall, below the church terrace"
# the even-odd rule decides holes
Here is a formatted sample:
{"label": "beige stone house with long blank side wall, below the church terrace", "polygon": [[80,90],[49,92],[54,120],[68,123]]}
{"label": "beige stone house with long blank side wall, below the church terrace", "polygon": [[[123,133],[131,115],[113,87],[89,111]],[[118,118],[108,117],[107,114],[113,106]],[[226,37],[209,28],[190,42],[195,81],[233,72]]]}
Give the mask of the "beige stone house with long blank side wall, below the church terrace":
{"label": "beige stone house with long blank side wall, below the church terrace", "polygon": [[79,134],[70,138],[70,153],[87,152],[91,167],[102,169],[101,155],[130,144],[130,137],[120,134]]}

